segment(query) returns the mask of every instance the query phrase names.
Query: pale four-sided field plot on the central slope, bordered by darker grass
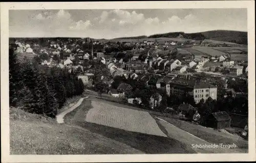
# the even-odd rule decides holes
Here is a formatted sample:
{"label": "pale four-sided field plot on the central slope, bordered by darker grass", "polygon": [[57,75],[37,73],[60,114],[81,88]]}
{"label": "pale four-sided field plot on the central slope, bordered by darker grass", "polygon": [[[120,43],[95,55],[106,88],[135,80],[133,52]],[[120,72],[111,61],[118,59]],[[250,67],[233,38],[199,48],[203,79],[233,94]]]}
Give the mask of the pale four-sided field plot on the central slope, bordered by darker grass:
{"label": "pale four-sided field plot on the central slope, bordered by darker grass", "polygon": [[86,115],[87,122],[166,137],[146,111],[117,107],[99,101],[92,101],[92,106]]}

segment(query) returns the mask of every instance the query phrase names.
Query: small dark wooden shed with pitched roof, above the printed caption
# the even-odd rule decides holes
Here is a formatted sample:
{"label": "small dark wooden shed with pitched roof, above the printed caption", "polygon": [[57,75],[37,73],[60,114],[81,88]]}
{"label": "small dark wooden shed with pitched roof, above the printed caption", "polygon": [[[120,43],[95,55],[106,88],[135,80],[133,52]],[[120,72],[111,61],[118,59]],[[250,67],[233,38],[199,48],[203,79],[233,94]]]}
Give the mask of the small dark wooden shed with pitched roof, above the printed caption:
{"label": "small dark wooden shed with pitched roof, above the printed caption", "polygon": [[225,129],[230,128],[230,121],[231,118],[226,111],[214,112],[208,116],[206,125],[216,129]]}

